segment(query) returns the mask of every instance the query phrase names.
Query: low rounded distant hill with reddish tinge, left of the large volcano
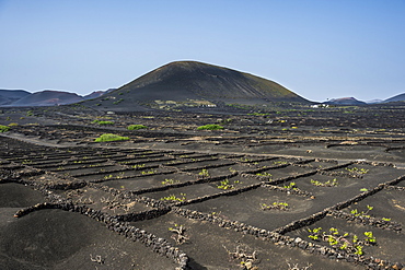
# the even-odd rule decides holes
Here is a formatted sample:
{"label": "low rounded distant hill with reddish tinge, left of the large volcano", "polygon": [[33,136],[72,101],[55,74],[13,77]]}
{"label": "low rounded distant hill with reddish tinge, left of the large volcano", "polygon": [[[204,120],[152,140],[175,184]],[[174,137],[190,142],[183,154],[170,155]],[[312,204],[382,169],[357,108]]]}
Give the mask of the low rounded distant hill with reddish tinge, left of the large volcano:
{"label": "low rounded distant hill with reddish tinge, left of the large volcano", "polygon": [[12,103],[11,106],[55,106],[78,103],[83,99],[82,96],[76,93],[45,90],[24,96]]}

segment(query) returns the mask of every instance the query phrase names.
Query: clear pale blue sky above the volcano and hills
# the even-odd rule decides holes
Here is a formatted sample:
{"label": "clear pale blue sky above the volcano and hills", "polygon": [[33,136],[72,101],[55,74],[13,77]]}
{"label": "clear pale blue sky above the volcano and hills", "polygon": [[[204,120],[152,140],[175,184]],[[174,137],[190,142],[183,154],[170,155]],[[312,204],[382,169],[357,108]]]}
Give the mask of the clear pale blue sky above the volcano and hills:
{"label": "clear pale blue sky above the volcano and hills", "polygon": [[0,0],[0,89],[88,94],[171,61],[311,101],[405,93],[404,0]]}

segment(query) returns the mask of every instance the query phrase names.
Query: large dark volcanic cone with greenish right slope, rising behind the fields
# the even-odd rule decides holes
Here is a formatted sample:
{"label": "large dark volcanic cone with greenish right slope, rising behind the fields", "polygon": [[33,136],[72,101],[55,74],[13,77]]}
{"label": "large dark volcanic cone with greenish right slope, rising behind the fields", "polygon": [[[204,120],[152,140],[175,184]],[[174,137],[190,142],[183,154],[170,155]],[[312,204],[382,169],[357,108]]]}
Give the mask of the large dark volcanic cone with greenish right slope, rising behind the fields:
{"label": "large dark volcanic cone with greenish right slope, rising behind the fields", "polygon": [[223,103],[310,103],[270,80],[197,61],[167,63],[105,96],[83,104],[112,110],[136,110],[144,105],[159,107],[193,102],[207,106]]}

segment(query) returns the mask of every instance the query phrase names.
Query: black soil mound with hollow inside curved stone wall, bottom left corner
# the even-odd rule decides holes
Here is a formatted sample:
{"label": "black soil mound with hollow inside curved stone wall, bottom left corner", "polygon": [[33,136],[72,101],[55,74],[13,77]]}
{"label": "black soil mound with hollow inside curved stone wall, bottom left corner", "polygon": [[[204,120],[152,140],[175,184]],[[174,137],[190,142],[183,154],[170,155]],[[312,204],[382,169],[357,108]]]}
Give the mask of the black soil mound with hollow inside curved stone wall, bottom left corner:
{"label": "black soil mound with hollow inside curved stone wall, bottom left corner", "polygon": [[[1,225],[5,269],[173,269],[166,258],[84,215],[42,210]],[[103,263],[91,260],[101,256]],[[4,268],[2,268],[4,269]]]}

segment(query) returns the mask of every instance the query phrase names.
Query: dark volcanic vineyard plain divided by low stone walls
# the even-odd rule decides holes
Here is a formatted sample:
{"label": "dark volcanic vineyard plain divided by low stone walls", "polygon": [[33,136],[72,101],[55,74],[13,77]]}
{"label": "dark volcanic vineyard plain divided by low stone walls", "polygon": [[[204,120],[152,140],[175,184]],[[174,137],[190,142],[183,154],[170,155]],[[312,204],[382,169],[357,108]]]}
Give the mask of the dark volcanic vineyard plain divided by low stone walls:
{"label": "dark volcanic vineyard plain divided by low stone walls", "polygon": [[403,113],[4,110],[0,265],[402,269]]}

